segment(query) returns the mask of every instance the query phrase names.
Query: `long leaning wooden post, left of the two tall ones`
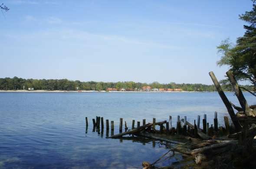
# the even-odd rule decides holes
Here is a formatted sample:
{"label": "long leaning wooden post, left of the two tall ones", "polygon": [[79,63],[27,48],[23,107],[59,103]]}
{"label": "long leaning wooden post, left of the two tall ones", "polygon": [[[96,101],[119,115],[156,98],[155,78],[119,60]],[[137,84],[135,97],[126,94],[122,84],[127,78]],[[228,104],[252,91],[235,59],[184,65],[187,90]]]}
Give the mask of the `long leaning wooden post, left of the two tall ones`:
{"label": "long leaning wooden post, left of the two tall ones", "polygon": [[210,71],[209,75],[212,78],[213,83],[214,83],[214,85],[215,85],[215,87],[216,87],[216,89],[217,89],[217,91],[218,91],[218,93],[219,93],[223,103],[226,106],[226,109],[227,109],[227,111],[228,111],[228,113],[230,115],[230,118],[231,118],[231,120],[232,120],[232,122],[233,122],[233,124],[235,126],[236,131],[240,131],[241,130],[241,125],[240,125],[240,123],[239,123],[239,121],[238,121],[238,119],[236,117],[236,114],[235,114],[235,112],[234,112],[234,110],[232,108],[232,105],[230,104],[230,101],[227,99],[226,95],[224,94],[224,92],[223,92],[223,90],[222,90],[222,88],[220,86],[220,83],[218,82],[218,80],[215,77],[214,73],[212,71]]}

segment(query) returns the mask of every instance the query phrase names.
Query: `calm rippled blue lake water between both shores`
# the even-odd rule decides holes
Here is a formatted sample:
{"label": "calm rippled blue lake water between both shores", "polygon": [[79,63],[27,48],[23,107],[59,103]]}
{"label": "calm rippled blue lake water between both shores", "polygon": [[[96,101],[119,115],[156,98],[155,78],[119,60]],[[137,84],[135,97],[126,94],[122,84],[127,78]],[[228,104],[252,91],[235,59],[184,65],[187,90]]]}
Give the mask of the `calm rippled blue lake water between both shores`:
{"label": "calm rippled blue lake water between both shores", "polygon": [[[233,93],[226,93],[239,105]],[[249,104],[256,99],[244,93]],[[151,122],[167,120],[172,115],[207,114],[213,123],[214,111],[223,123],[226,108],[217,93],[32,93],[0,92],[0,168],[141,168],[142,161],[154,162],[167,150],[159,142],[134,137],[106,139],[92,132],[92,118],[119,118]],[[89,119],[85,130],[85,117]],[[173,122],[174,123],[174,122]],[[123,122],[124,124],[124,122]],[[124,130],[124,129],[123,129]],[[159,165],[168,165],[181,156]]]}

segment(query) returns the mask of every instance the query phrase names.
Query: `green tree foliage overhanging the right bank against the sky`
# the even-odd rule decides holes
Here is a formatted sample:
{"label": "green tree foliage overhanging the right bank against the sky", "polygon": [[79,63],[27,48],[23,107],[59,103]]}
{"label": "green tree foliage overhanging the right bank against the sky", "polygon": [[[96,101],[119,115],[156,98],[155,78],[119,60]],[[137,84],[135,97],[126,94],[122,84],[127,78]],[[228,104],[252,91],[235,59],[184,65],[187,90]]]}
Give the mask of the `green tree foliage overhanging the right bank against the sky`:
{"label": "green tree foliage overhanging the right bank against the sky", "polygon": [[256,4],[253,0],[253,9],[240,15],[249,25],[244,25],[246,32],[237,38],[233,45],[229,39],[217,46],[218,52],[222,53],[217,65],[228,65],[239,80],[249,80],[256,87]]}

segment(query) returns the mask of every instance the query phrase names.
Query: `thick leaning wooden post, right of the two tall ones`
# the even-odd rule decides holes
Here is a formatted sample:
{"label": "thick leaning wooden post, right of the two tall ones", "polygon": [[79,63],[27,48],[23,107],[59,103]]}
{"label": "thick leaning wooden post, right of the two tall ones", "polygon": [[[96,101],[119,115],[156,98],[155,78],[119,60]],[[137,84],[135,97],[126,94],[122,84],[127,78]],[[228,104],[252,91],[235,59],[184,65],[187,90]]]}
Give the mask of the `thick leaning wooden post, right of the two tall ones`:
{"label": "thick leaning wooden post, right of the two tall ones", "polygon": [[237,97],[241,107],[243,108],[244,113],[246,114],[246,116],[254,117],[254,114],[250,111],[249,105],[247,104],[247,101],[246,101],[245,97],[243,96],[243,92],[241,91],[240,87],[238,86],[236,78],[233,75],[232,71],[230,71],[230,70],[227,71],[226,75],[230,79],[230,82],[233,86],[236,97]]}

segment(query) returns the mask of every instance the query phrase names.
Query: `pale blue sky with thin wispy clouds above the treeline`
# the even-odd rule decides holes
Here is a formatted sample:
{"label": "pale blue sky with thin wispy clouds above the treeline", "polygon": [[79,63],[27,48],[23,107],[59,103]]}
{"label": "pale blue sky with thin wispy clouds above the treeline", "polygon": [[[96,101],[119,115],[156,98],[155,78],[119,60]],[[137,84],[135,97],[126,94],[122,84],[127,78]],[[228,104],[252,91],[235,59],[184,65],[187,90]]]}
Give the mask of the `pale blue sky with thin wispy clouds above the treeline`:
{"label": "pale blue sky with thin wispy clouds above the treeline", "polygon": [[212,84],[251,0],[2,0],[0,77]]}

